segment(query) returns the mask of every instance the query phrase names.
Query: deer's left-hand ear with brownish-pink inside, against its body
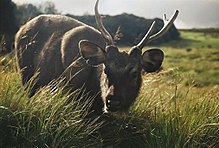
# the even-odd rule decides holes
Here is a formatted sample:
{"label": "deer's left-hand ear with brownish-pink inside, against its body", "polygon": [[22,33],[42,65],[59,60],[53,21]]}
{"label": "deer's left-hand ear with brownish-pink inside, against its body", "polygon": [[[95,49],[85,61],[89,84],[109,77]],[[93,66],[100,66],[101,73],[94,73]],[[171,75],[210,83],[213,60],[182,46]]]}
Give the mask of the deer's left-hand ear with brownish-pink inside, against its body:
{"label": "deer's left-hand ear with brownish-pink inside, against its body", "polygon": [[97,66],[105,61],[105,51],[95,43],[81,40],[78,46],[81,56],[88,64]]}

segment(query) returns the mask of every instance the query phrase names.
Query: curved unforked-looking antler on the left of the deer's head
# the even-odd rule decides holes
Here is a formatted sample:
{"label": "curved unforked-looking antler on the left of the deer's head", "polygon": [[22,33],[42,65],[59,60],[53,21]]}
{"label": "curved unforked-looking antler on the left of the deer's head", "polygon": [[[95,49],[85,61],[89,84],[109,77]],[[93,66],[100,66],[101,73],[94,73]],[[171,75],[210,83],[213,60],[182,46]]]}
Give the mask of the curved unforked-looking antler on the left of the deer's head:
{"label": "curved unforked-looking antler on the left of the deer's head", "polygon": [[98,4],[99,4],[99,0],[97,0],[96,4],[95,4],[95,19],[96,19],[97,27],[100,30],[100,32],[101,32],[102,36],[104,37],[104,39],[106,40],[106,42],[109,45],[114,45],[114,41],[113,41],[112,36],[110,35],[110,33],[106,30],[106,28],[103,25],[101,15],[99,14],[99,11],[98,11]]}

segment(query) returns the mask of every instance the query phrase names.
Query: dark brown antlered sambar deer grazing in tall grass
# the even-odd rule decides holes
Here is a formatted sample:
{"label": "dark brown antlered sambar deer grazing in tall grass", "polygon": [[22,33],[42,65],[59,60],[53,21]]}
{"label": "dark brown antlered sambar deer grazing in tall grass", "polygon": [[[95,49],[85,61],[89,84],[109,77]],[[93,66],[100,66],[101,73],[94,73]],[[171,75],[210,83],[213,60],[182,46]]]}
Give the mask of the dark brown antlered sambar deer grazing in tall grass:
{"label": "dark brown antlered sambar deer grazing in tall grass", "polygon": [[94,98],[91,110],[102,112],[127,111],[138,96],[142,69],[158,70],[164,53],[160,49],[142,48],[161,37],[173,24],[178,10],[164,26],[151,35],[152,23],[144,38],[130,51],[121,52],[102,23],[95,4],[98,30],[78,20],[61,15],[40,15],[22,26],[16,34],[15,50],[22,84],[29,83],[39,72],[31,94],[60,76],[72,90],[85,88]]}

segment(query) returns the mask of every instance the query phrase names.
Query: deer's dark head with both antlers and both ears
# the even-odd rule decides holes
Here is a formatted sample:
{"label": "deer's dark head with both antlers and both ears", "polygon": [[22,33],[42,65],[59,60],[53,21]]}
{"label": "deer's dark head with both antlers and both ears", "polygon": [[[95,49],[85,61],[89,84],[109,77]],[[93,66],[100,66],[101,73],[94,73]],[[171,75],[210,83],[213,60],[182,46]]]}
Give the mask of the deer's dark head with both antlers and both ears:
{"label": "deer's dark head with both antlers and both ears", "polygon": [[136,46],[133,46],[129,52],[120,52],[102,23],[98,3],[99,0],[95,5],[95,18],[106,47],[103,49],[95,43],[81,40],[80,54],[91,66],[103,65],[100,83],[104,111],[126,111],[138,96],[142,82],[142,69],[146,72],[155,72],[164,59],[162,50],[149,49],[142,53],[143,47],[169,29],[178,15],[178,10],[169,21],[164,15],[164,26],[158,33],[151,35],[155,25],[153,22],[147,34]]}

